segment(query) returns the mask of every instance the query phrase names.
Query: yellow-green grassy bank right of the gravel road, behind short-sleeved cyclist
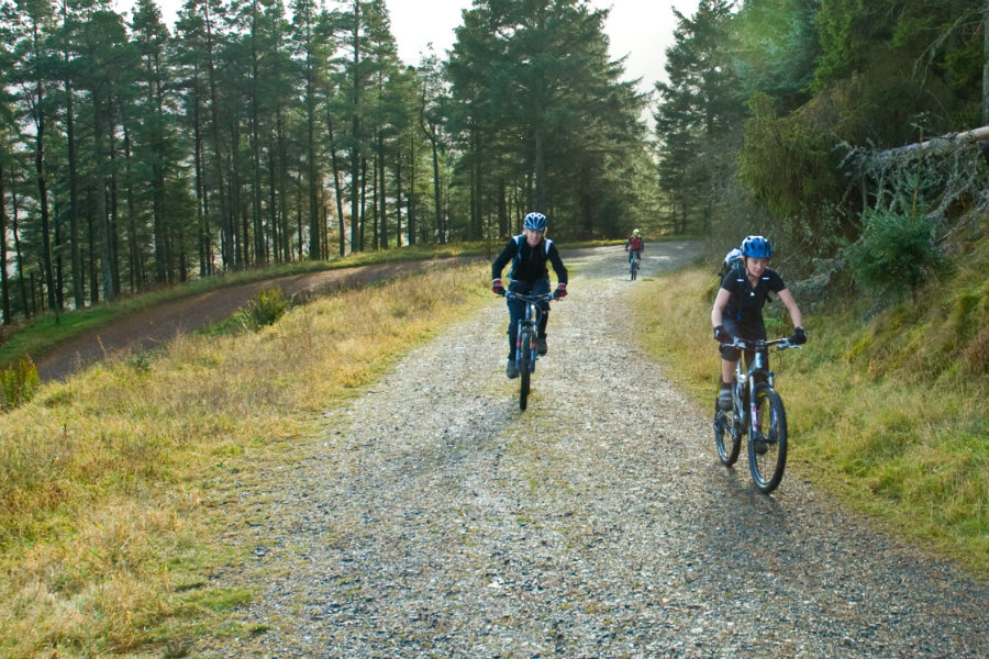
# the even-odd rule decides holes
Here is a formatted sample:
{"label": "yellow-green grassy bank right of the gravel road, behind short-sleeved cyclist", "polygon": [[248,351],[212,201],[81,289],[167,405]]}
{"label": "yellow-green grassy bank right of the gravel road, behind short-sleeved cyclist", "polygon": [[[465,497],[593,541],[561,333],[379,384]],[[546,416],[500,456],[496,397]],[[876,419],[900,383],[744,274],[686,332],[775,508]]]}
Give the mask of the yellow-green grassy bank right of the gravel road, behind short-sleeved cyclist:
{"label": "yellow-green grassy bank right of the gravel road, behind short-sleeved cyclist", "polygon": [[[798,299],[810,342],[773,358],[790,478],[811,479],[981,577],[989,577],[987,258],[986,245],[960,255],[951,275],[881,311],[851,290],[820,309]],[[642,342],[705,407],[720,372],[712,272],[707,264],[647,282],[634,305]],[[769,334],[789,334],[778,303],[767,311]]]}

